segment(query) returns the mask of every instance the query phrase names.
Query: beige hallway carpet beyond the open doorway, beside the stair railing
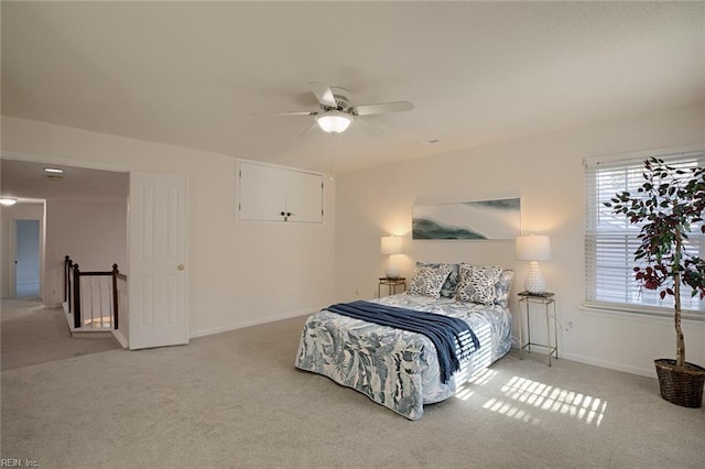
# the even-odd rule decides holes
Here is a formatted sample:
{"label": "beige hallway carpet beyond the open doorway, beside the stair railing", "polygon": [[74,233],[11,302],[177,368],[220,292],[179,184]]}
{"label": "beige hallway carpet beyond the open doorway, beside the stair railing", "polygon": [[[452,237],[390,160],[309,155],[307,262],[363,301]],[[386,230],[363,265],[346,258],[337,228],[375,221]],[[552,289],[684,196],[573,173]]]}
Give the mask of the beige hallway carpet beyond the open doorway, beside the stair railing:
{"label": "beige hallway carpet beyond the open doorway, beside the stair railing", "polygon": [[107,334],[72,338],[62,308],[36,297],[2,299],[0,329],[2,371],[120,348]]}

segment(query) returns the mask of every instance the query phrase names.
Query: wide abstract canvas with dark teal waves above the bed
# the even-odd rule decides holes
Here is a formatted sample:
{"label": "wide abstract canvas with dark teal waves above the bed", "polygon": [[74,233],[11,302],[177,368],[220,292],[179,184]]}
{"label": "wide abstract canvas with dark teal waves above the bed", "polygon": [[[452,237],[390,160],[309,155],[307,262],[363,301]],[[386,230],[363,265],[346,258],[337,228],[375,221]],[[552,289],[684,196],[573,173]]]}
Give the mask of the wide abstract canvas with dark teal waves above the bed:
{"label": "wide abstract canvas with dark teal waves above the bed", "polygon": [[416,205],[412,239],[514,239],[521,233],[521,200]]}

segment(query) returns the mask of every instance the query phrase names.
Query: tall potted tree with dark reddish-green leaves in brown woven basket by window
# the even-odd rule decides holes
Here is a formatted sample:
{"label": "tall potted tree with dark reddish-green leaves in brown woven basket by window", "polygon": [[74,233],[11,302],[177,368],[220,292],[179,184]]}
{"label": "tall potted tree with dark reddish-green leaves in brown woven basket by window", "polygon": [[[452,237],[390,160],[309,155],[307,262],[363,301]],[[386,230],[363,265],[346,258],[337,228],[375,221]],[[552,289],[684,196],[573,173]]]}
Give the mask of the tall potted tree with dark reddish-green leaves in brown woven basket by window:
{"label": "tall potted tree with dark reddish-green leaves in brown woven basket by window", "polygon": [[[705,209],[705,168],[676,168],[663,160],[644,161],[644,182],[637,194],[625,190],[605,203],[614,214],[640,223],[640,246],[634,252],[634,279],[661,298],[673,297],[675,360],[657,359],[661,396],[685,407],[703,404],[705,368],[685,361],[685,341],[681,328],[681,287],[692,296],[705,297],[705,261],[687,252],[691,227],[703,222]],[[705,233],[705,225],[701,226]]]}

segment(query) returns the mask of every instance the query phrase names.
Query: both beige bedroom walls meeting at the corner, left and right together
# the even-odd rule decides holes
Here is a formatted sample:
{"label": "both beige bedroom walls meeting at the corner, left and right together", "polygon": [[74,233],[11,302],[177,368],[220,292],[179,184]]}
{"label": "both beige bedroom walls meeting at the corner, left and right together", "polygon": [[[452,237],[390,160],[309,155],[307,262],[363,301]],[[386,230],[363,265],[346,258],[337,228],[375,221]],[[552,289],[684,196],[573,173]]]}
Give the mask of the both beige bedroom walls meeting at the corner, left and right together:
{"label": "both beige bedroom walls meeting at the corner, left and right together", "polygon": [[[356,291],[375,296],[386,261],[379,239],[409,234],[416,199],[519,195],[524,232],[552,237],[553,260],[542,269],[556,292],[561,323],[573,324],[561,332],[561,356],[653,374],[652,360],[675,352],[669,320],[581,308],[583,159],[698,143],[703,106],[341,174],[326,186],[324,225],[236,223],[235,157],[228,155],[9,117],[2,117],[2,135],[3,152],[57,164],[187,175],[192,336],[307,313]],[[517,270],[517,292],[527,272],[507,241],[406,239],[404,249],[399,264],[406,276],[416,260],[500,263]],[[685,334],[688,361],[704,364],[705,327],[687,323]]]}

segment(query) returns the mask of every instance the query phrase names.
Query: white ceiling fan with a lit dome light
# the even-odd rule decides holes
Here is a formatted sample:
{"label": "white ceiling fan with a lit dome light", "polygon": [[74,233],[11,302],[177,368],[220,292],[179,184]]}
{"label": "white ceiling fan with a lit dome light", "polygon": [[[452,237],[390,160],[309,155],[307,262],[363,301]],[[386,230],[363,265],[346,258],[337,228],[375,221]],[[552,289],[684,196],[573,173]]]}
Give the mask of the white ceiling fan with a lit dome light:
{"label": "white ceiling fan with a lit dome light", "polygon": [[350,92],[345,88],[334,88],[317,81],[308,83],[308,88],[318,100],[319,110],[280,113],[280,116],[314,117],[315,122],[302,132],[301,135],[307,133],[316,126],[328,133],[340,133],[345,132],[350,123],[360,116],[404,112],[414,108],[414,105],[409,101],[350,106]]}

